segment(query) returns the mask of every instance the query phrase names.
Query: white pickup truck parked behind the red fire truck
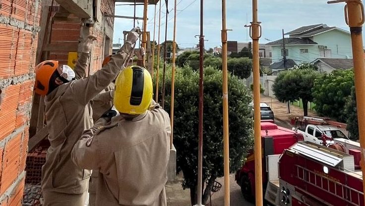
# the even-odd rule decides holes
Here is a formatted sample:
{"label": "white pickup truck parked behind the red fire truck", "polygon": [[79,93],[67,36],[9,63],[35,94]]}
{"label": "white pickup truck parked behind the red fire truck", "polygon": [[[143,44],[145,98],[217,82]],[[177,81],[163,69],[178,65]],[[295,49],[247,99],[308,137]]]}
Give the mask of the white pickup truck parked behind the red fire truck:
{"label": "white pickup truck parked behind the red fire truck", "polygon": [[[304,141],[313,142],[316,144],[323,144],[322,134],[332,139],[344,138],[349,139],[338,127],[332,125],[314,125],[308,124],[305,127],[305,131],[302,131],[296,127],[292,130],[298,131],[303,134]],[[333,143],[333,141],[327,140],[327,144]]]}

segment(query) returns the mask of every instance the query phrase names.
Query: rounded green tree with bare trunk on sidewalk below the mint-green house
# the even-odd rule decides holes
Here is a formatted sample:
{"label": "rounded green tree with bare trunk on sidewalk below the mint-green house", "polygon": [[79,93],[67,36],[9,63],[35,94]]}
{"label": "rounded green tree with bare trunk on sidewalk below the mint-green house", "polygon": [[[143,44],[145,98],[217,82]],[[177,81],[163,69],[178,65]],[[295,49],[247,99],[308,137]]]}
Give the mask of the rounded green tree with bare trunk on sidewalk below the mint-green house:
{"label": "rounded green tree with bare trunk on sidewalk below the mint-green house", "polygon": [[280,72],[272,88],[279,101],[302,99],[304,116],[308,115],[308,102],[313,100],[311,88],[317,72],[312,69],[296,69]]}

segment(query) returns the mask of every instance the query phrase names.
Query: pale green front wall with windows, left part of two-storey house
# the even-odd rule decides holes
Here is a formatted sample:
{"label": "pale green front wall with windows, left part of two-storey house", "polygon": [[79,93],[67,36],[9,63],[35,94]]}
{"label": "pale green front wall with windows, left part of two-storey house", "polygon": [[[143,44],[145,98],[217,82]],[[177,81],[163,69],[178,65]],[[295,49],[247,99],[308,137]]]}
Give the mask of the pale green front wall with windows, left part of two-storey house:
{"label": "pale green front wall with windows, left part of two-storey house", "polygon": [[[281,45],[272,46],[272,62],[279,62],[283,59],[281,55]],[[317,45],[285,45],[288,49],[289,56],[287,59],[293,59],[297,64],[309,63],[319,56]],[[308,49],[308,53],[301,53],[301,49]]]}

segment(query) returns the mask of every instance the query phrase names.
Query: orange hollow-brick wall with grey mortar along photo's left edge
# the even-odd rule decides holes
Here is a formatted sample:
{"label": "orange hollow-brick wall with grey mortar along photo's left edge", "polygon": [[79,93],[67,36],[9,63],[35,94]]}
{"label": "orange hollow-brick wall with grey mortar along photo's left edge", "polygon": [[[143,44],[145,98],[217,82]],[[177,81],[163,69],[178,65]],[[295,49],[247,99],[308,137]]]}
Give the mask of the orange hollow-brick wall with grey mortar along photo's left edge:
{"label": "orange hollow-brick wall with grey mortar along photo's left edge", "polygon": [[20,206],[41,0],[1,0],[0,205]]}

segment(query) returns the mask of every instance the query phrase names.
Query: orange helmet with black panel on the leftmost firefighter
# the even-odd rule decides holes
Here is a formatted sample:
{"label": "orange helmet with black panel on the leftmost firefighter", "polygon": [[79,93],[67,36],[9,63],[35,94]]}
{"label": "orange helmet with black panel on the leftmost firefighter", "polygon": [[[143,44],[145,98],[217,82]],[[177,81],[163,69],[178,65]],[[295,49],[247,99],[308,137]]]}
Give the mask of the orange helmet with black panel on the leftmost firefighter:
{"label": "orange helmet with black panel on the leftmost firefighter", "polygon": [[52,75],[57,70],[58,66],[59,61],[55,60],[46,60],[36,66],[36,80],[34,84],[34,91],[37,94],[41,96],[45,96],[48,94],[50,89],[50,80],[52,78]]}

